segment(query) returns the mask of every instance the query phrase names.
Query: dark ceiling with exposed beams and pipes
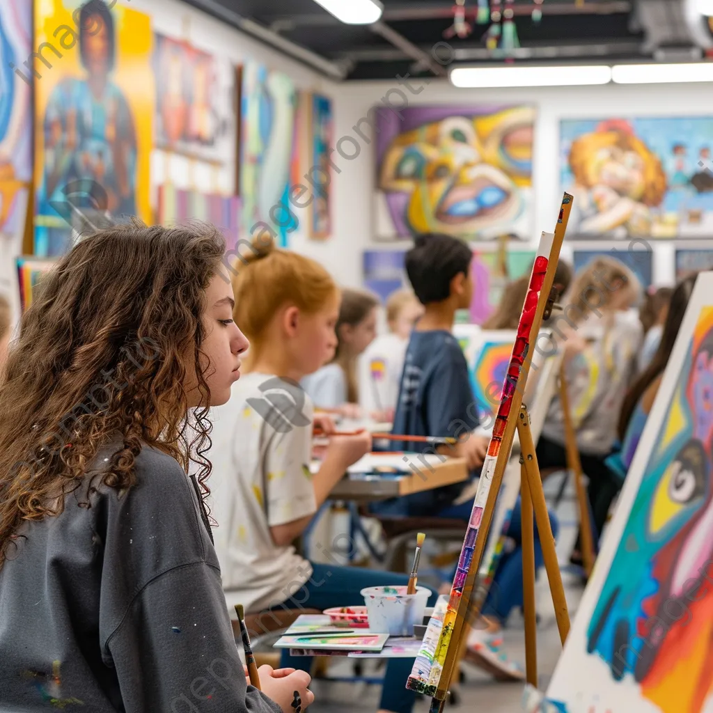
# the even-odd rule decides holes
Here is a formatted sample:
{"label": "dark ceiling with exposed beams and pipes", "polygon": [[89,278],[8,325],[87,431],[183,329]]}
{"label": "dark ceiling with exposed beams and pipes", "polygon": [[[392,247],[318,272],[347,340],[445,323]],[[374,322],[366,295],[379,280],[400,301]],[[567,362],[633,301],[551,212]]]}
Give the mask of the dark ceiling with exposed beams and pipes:
{"label": "dark ceiling with exposed beams and pipes", "polygon": [[[543,0],[538,22],[532,18],[538,7],[533,0],[515,0],[520,48],[509,56],[486,47],[490,23],[476,24],[478,0],[466,0],[472,32],[463,39],[448,34],[454,0],[381,0],[384,14],[370,26],[342,24],[313,0],[185,1],[345,80],[389,79],[406,72],[445,76],[443,63],[431,53],[434,46],[436,53],[446,53],[441,54],[444,63],[492,64],[642,60],[662,47],[680,52],[695,44],[683,19],[690,0]],[[438,45],[443,42],[450,48]]]}

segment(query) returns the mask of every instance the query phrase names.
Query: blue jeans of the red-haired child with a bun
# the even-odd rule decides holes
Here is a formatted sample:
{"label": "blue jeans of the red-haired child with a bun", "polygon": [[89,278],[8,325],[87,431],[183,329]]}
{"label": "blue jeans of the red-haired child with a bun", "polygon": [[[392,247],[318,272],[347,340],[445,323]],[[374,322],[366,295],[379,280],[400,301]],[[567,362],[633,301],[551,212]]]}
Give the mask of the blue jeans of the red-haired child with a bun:
{"label": "blue jeans of the red-haired child with a bun", "polygon": [[[300,605],[310,609],[329,609],[330,607],[363,606],[364,597],[360,592],[366,587],[385,585],[404,585],[409,583],[409,575],[390,572],[376,572],[357,567],[337,567],[312,563],[314,572],[301,590]],[[431,590],[429,607],[436,605],[438,593]],[[284,602],[287,607],[296,609],[293,600]],[[309,671],[312,658],[292,656],[289,650],[283,650],[279,662],[282,668],[296,668]],[[413,659],[391,659],[386,665],[386,676],[381,689],[379,707],[394,713],[411,713],[416,702],[416,694],[406,690],[406,681],[414,666]]]}

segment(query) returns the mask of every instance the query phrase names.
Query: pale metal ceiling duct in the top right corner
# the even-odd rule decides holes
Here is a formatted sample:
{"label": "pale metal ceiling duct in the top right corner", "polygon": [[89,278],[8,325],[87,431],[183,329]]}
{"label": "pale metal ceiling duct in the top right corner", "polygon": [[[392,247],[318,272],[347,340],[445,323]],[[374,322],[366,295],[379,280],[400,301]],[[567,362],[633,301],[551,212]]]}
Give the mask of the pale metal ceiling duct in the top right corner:
{"label": "pale metal ceiling duct in the top right corner", "polygon": [[636,10],[646,33],[644,49],[659,61],[696,60],[713,47],[697,0],[637,0]]}

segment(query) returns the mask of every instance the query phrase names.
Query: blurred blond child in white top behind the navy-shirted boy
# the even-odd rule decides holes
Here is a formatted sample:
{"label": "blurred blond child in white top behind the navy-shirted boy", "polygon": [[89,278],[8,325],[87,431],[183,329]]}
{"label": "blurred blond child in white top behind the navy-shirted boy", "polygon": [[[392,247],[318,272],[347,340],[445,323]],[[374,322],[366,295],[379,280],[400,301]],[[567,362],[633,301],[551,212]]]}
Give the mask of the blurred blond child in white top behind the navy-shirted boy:
{"label": "blurred blond child in white top behind the navy-shirted boy", "polygon": [[377,421],[393,421],[399,398],[404,356],[411,329],[424,307],[410,289],[399,289],[386,300],[388,334],[381,334],[359,359],[359,405]]}

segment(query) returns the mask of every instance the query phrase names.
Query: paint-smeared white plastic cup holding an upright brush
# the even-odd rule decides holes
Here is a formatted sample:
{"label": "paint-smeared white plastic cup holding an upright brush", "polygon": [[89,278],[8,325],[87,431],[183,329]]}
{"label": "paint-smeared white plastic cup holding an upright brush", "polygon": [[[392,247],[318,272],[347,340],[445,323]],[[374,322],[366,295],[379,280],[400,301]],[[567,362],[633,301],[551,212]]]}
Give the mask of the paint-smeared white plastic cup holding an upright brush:
{"label": "paint-smeared white plastic cup holding an upright brush", "polygon": [[406,587],[368,587],[361,590],[369,612],[369,630],[375,634],[413,636],[414,625],[423,624],[431,591],[416,587],[416,594],[406,594]]}

